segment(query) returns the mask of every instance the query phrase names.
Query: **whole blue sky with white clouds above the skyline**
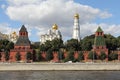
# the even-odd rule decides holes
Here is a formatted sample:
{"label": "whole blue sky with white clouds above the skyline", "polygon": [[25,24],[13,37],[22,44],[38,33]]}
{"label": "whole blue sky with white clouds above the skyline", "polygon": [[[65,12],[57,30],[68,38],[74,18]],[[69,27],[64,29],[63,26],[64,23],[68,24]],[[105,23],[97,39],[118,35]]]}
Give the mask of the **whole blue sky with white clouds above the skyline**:
{"label": "whole blue sky with white clouds above the skyline", "polygon": [[72,38],[74,14],[80,15],[80,37],[94,34],[98,26],[104,33],[120,36],[120,0],[0,0],[0,32],[19,32],[24,24],[29,39],[40,41],[53,24],[63,40]]}

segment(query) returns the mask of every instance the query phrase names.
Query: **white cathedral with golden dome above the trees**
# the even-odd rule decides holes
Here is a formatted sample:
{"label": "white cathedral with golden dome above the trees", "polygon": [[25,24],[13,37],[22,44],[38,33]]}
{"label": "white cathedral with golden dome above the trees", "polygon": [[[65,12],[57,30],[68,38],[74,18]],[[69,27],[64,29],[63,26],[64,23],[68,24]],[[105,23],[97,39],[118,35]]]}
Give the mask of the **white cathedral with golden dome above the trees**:
{"label": "white cathedral with golden dome above the trees", "polygon": [[48,30],[47,34],[41,35],[40,43],[45,43],[47,40],[52,41],[55,38],[62,38],[61,32],[58,30],[58,26],[54,24],[52,29]]}

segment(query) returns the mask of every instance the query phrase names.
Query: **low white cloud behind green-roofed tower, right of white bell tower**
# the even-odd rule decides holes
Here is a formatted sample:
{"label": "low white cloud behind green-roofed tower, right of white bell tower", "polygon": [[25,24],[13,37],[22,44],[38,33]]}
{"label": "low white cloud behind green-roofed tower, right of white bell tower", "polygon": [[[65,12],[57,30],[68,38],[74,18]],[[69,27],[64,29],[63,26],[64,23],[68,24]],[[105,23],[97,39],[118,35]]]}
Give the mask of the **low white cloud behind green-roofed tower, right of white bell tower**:
{"label": "low white cloud behind green-roofed tower, right of white bell tower", "polygon": [[81,25],[81,37],[85,37],[91,34],[95,34],[95,31],[97,30],[98,26],[102,28],[105,34],[112,34],[115,37],[120,35],[120,25],[116,24],[106,24],[106,23],[86,23]]}

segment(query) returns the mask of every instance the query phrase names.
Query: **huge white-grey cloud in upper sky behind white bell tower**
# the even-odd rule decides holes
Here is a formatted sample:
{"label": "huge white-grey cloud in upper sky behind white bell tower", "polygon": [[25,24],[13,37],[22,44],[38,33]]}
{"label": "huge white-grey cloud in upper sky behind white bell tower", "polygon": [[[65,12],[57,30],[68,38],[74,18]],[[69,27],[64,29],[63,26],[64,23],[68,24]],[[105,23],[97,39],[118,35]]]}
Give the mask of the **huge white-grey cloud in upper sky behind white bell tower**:
{"label": "huge white-grey cloud in upper sky behind white bell tower", "polygon": [[98,26],[91,23],[93,20],[112,16],[107,11],[74,0],[8,0],[8,3],[6,14],[10,19],[28,24],[30,29],[35,27],[39,35],[46,33],[56,23],[64,38],[72,37],[73,15],[76,11],[80,14],[82,36],[93,33],[91,29]]}

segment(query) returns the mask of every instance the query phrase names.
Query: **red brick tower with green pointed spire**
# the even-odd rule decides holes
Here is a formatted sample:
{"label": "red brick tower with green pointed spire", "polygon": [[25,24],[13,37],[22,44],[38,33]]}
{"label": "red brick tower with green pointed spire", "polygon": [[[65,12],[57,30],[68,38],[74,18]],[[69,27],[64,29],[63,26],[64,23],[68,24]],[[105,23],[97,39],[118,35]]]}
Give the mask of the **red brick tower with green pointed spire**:
{"label": "red brick tower with green pointed spire", "polygon": [[97,28],[97,31],[95,32],[95,39],[92,51],[94,51],[97,56],[104,52],[107,56],[106,60],[108,60],[108,49],[106,48],[104,32],[100,26]]}

